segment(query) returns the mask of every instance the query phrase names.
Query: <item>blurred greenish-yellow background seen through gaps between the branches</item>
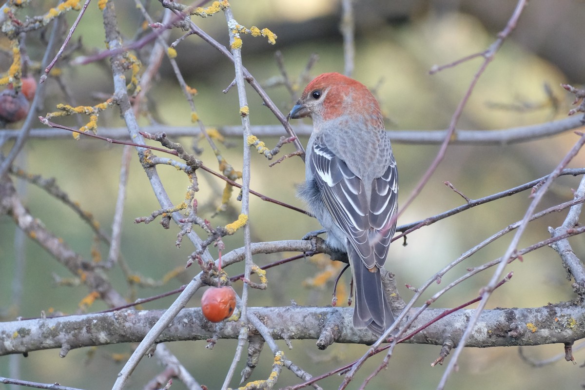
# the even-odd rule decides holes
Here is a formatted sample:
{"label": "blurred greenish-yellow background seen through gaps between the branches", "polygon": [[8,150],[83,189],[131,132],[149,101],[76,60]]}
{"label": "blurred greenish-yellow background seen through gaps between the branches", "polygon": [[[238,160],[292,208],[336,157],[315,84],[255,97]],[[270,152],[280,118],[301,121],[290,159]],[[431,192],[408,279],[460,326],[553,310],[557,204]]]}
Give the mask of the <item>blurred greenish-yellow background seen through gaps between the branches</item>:
{"label": "blurred greenish-yellow background seen through gaps between the branches", "polygon": [[[49,2],[47,2],[48,4]],[[149,11],[158,18],[161,14],[159,2],[146,2]],[[514,2],[480,0],[470,1],[397,1],[369,0],[356,2],[356,57],[353,77],[370,88],[376,89],[385,115],[387,129],[445,129],[457,104],[479,68],[481,59],[474,59],[457,67],[449,68],[436,75],[428,70],[434,64],[445,64],[469,54],[487,49],[498,31],[504,28],[510,17]],[[46,10],[47,4],[33,4],[31,15]],[[276,46],[266,43],[264,38],[243,37],[243,61],[248,70],[260,82],[266,82],[279,75],[274,59],[276,50],[283,53],[285,66],[292,80],[305,68],[309,56],[316,53],[319,61],[311,69],[311,76],[324,72],[343,72],[343,42],[339,33],[340,2],[311,0],[257,0],[231,2],[232,11],[238,22],[246,27],[256,25],[268,27],[278,35]],[[554,6],[552,6],[554,4]],[[115,2],[118,10],[120,29],[127,39],[135,36],[140,29],[142,18],[134,2]],[[579,16],[580,15],[580,16]],[[522,15],[517,30],[505,42],[495,60],[488,66],[473,95],[467,103],[459,129],[504,129],[533,123],[548,122],[566,116],[572,96],[559,87],[561,82],[583,82],[582,61],[585,53],[579,50],[580,20],[585,15],[585,4],[577,1],[547,2],[531,1]],[[72,23],[76,12],[67,15]],[[224,44],[228,43],[225,18],[220,13],[211,18],[195,18],[194,22]],[[173,38],[180,36],[173,32]],[[74,34],[82,39],[83,49],[70,54],[67,60],[83,52],[104,50],[104,32],[97,4],[91,4],[87,14]],[[30,34],[27,46],[30,57],[39,61],[44,50],[39,34]],[[6,42],[4,42],[6,44]],[[147,58],[149,47],[143,49]],[[191,36],[177,46],[177,61],[191,87],[197,88],[195,105],[199,117],[208,127],[239,125],[238,96],[235,89],[223,94],[233,80],[233,66],[216,54],[205,43]],[[6,57],[4,63],[9,64]],[[95,105],[99,102],[96,94],[111,94],[112,80],[108,73],[109,61],[85,66],[70,66],[67,61],[58,63],[63,71],[63,80],[78,104]],[[63,93],[54,80],[49,78],[48,92],[43,102],[43,112],[54,111],[64,101]],[[545,91],[549,85],[553,99]],[[304,88],[303,85],[295,85]],[[248,88],[250,120],[252,125],[277,125],[270,111],[262,105],[260,98]],[[282,86],[267,88],[271,98],[281,111],[288,112],[293,99]],[[190,126],[191,111],[178,83],[164,61],[160,77],[149,94],[154,117],[161,123],[173,126]],[[494,108],[494,105],[508,105],[508,108]],[[510,106],[513,106],[512,108]],[[87,122],[86,118],[83,118]],[[78,126],[77,120],[66,118],[59,123]],[[141,119],[147,125],[146,119]],[[297,122],[292,123],[295,126]],[[118,109],[111,109],[99,116],[99,127],[118,127]],[[40,127],[40,125],[39,125]],[[18,129],[18,125],[13,128]],[[194,128],[194,134],[198,129]],[[284,132],[283,132],[284,134]],[[515,145],[501,146],[450,146],[445,161],[439,166],[422,194],[401,216],[398,224],[428,218],[436,213],[462,204],[463,199],[443,185],[449,181],[470,198],[503,191],[542,177],[555,168],[558,162],[573,146],[577,137],[572,132],[549,139]],[[180,141],[191,145],[191,139]],[[267,146],[276,143],[277,137],[263,139]],[[222,153],[238,170],[242,166],[242,140],[229,139],[232,147],[221,146]],[[302,143],[306,143],[303,139]],[[7,153],[11,144],[5,145]],[[199,146],[205,147],[201,141]],[[293,151],[292,146],[283,147],[283,153]],[[421,175],[428,168],[438,151],[436,145],[394,144],[394,154],[400,171],[400,199],[408,197]],[[109,232],[113,209],[118,191],[119,166],[122,147],[102,141],[82,138],[75,141],[64,139],[32,139],[27,142],[18,165],[32,174],[54,177],[70,197],[80,202],[82,208],[91,212]],[[206,165],[216,168],[215,157],[205,148],[201,159]],[[570,167],[583,167],[585,158],[577,156]],[[252,156],[252,188],[264,195],[302,207],[295,198],[295,184],[304,180],[304,166],[300,158],[291,158],[269,168],[264,157]],[[160,167],[159,172],[171,199],[182,201],[187,178],[171,167]],[[198,172],[197,194],[199,215],[211,218],[221,202],[223,183]],[[546,195],[540,209],[572,199],[571,188],[576,188],[579,178],[559,178],[552,191]],[[146,175],[137,157],[133,157],[129,177],[129,191],[123,213],[122,256],[129,267],[143,277],[160,279],[164,274],[185,264],[193,248],[184,240],[183,246],[174,246],[178,228],[164,230],[156,220],[149,225],[133,223],[139,216],[150,215],[159,209]],[[19,191],[26,207],[33,216],[40,219],[47,229],[63,237],[75,251],[91,258],[94,237],[90,227],[85,225],[67,207],[51,198],[40,189],[19,184]],[[479,206],[467,212],[442,220],[435,225],[417,230],[408,236],[408,246],[395,243],[390,248],[387,268],[397,274],[399,286],[421,285],[444,265],[461,253],[476,245],[487,236],[504,229],[522,218],[531,199],[528,193],[501,199]],[[254,241],[297,239],[309,230],[317,229],[316,220],[297,212],[280,208],[271,203],[252,197],[250,220]],[[230,202],[226,212],[211,219],[214,225],[232,222],[239,214],[239,203]],[[521,247],[529,246],[549,237],[548,226],[559,226],[566,213],[549,215],[530,225],[521,241]],[[25,240],[25,265],[22,279],[22,296],[15,306],[13,279],[16,270],[15,225],[11,218],[0,216],[0,316],[2,320],[13,320],[16,316],[39,316],[40,310],[56,310],[64,313],[78,311],[78,304],[88,294],[83,285],[63,287],[55,282],[54,275],[72,278],[74,275],[61,267],[49,254],[30,240]],[[429,289],[428,298],[438,289],[466,272],[467,267],[484,264],[504,254],[510,237],[504,237],[476,256],[465,261],[449,272],[441,285]],[[225,237],[226,251],[242,246],[242,234]],[[577,256],[585,254],[582,237],[571,240]],[[108,249],[100,246],[102,256]],[[216,252],[212,250],[214,256]],[[286,257],[254,257],[256,264],[263,265]],[[322,288],[308,288],[304,283],[324,267],[315,261],[295,261],[269,271],[269,288],[266,291],[253,290],[250,294],[252,306],[288,305],[294,299],[300,305],[329,305],[331,284]],[[240,264],[228,268],[230,275],[242,272]],[[549,302],[567,301],[574,298],[570,282],[556,253],[543,248],[524,256],[524,262],[508,266],[514,270],[514,278],[498,289],[488,308],[543,306]],[[197,272],[191,267],[157,288],[140,288],[138,297],[160,294],[174,289],[188,281]],[[443,296],[436,307],[453,307],[477,296],[479,289],[491,277],[492,271],[477,275]],[[119,270],[114,268],[108,277],[122,294],[130,298],[130,288]],[[349,275],[342,279],[349,284]],[[241,291],[241,283],[235,284]],[[412,292],[401,289],[404,299]],[[197,306],[198,294],[191,304]],[[136,298],[136,297],[132,297]],[[173,298],[144,305],[145,309],[166,308]],[[340,303],[343,303],[340,300]],[[90,308],[92,311],[105,309],[101,302]],[[583,326],[580,324],[579,326]],[[201,383],[210,389],[219,388],[225,372],[232,361],[235,341],[220,340],[213,350],[205,348],[205,342],[182,342],[169,344],[181,363]],[[360,357],[366,346],[335,344],[326,351],[319,351],[314,341],[293,341],[294,349],[288,350],[280,343],[287,357],[312,375],[347,364]],[[0,375],[8,377],[9,364],[20,365],[20,379],[39,382],[60,382],[62,385],[87,389],[111,388],[116,374],[125,360],[113,361],[113,354],[128,354],[130,345],[99,347],[97,350],[84,348],[71,351],[64,359],[59,351],[40,351],[28,357],[0,357]],[[443,373],[442,367],[431,368],[438,356],[436,346],[398,346],[390,361],[390,367],[381,372],[372,382],[372,389],[417,389],[434,388]],[[563,352],[563,346],[539,346],[526,348],[534,357],[548,358]],[[577,361],[583,357],[577,353]],[[12,363],[9,363],[12,360]],[[381,358],[372,358],[360,371],[354,382],[357,386],[371,370],[377,367]],[[272,357],[266,348],[259,366],[251,379],[266,378],[269,375]],[[245,357],[240,361],[240,368]],[[156,360],[143,360],[131,377],[128,388],[142,388],[161,367]],[[239,370],[238,370],[239,372]],[[237,378],[232,386],[237,386]],[[278,386],[298,383],[298,378],[283,370]],[[583,371],[578,365],[564,360],[542,368],[532,368],[518,355],[518,349],[510,348],[469,348],[459,361],[459,371],[454,374],[448,387],[452,389],[517,389],[517,388],[577,388],[585,382]],[[323,388],[336,388],[339,377],[326,379]],[[173,389],[184,388],[178,381]],[[350,388],[354,388],[350,386]]]}

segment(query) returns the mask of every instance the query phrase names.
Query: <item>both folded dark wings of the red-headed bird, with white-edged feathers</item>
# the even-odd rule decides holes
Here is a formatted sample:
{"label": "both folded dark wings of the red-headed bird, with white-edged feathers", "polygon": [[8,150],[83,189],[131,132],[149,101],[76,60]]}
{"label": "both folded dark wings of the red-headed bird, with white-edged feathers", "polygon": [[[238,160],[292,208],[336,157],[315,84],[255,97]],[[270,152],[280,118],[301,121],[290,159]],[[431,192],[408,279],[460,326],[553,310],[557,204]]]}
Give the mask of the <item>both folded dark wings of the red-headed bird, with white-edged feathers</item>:
{"label": "both folded dark wings of the red-headed bird, with white-edged feathers", "polygon": [[382,267],[396,222],[398,178],[394,158],[381,177],[371,182],[370,196],[364,182],[335,155],[323,139],[315,140],[309,156],[315,184],[336,225],[346,233],[367,268]]}

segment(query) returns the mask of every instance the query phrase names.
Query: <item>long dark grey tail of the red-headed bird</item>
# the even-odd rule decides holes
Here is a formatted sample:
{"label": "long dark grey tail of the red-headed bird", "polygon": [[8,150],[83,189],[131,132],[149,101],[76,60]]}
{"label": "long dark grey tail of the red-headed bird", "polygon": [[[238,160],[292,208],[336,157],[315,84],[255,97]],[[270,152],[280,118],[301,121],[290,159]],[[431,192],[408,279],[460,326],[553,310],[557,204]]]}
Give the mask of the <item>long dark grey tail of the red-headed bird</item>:
{"label": "long dark grey tail of the red-headed bird", "polygon": [[394,315],[388,304],[380,271],[370,272],[355,250],[350,250],[353,288],[356,306],[353,309],[353,326],[367,327],[380,336],[394,323]]}

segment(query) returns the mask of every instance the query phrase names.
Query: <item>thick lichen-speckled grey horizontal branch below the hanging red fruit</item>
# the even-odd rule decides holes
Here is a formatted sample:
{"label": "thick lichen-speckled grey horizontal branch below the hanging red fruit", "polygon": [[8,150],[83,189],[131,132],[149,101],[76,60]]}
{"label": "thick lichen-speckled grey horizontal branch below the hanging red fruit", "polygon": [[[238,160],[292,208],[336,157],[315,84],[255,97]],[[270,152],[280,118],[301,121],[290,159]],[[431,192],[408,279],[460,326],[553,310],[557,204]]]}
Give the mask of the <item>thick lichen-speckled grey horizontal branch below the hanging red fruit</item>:
{"label": "thick lichen-speckled grey horizontal branch below the hanging red fruit", "polygon": [[[352,308],[314,308],[288,306],[249,308],[272,329],[274,339],[282,339],[278,329],[287,329],[295,340],[318,340],[329,317],[340,324],[338,343],[366,343],[377,340],[373,334],[352,326]],[[427,309],[414,327],[429,322],[445,309]],[[0,323],[0,356],[36,350],[72,349],[115,343],[134,343],[143,339],[164,310],[122,310],[113,313],[30,319]],[[445,340],[459,340],[474,310],[460,310],[439,320],[407,343],[442,345]],[[339,320],[340,319],[340,320]],[[585,338],[585,307],[558,303],[541,308],[485,310],[466,346],[502,347],[572,343]],[[276,330],[274,330],[276,329]],[[413,328],[414,329],[414,328]],[[204,319],[201,309],[183,309],[160,335],[157,342],[207,340],[216,327]],[[239,322],[228,322],[221,330],[225,339],[237,339]]]}

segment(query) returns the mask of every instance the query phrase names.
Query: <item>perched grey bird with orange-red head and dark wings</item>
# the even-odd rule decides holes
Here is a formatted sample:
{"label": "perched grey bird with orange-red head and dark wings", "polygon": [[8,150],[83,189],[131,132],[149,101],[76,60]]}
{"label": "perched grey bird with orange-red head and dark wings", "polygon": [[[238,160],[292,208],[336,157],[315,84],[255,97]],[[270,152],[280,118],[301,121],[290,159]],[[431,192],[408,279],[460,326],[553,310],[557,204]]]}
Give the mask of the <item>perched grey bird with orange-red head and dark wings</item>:
{"label": "perched grey bird with orange-red head and dark wings", "polygon": [[347,253],[356,306],[353,326],[384,333],[394,322],[380,277],[396,229],[398,173],[380,105],[362,83],[319,75],[292,108],[310,116],[313,132],[298,196],[327,231],[326,243]]}

